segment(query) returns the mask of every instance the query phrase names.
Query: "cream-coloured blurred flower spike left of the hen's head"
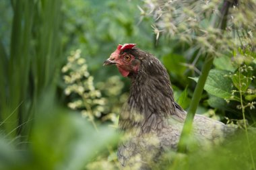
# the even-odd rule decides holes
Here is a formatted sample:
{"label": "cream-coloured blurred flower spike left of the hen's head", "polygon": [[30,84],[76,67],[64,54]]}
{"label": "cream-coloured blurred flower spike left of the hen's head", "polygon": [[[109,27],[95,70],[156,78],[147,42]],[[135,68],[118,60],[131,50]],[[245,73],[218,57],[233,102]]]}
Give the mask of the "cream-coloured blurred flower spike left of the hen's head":
{"label": "cream-coloured blurred flower spike left of the hen's head", "polygon": [[81,50],[71,52],[67,58],[67,65],[62,68],[65,74],[65,95],[72,95],[73,101],[67,105],[72,110],[81,110],[82,115],[94,120],[104,111],[106,99],[94,87],[93,79],[88,72],[86,59],[81,57]]}

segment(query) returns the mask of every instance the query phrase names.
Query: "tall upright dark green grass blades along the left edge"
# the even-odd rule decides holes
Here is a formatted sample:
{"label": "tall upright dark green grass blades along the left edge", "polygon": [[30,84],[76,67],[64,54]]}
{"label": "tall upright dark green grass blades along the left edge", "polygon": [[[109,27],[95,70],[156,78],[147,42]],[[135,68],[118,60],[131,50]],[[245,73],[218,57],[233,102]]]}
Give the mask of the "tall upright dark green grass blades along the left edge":
{"label": "tall upright dark green grass blades along the left edge", "polygon": [[0,43],[0,128],[6,137],[15,138],[28,136],[41,93],[53,90],[48,97],[54,97],[61,56],[61,1],[13,0],[10,4],[9,51]]}

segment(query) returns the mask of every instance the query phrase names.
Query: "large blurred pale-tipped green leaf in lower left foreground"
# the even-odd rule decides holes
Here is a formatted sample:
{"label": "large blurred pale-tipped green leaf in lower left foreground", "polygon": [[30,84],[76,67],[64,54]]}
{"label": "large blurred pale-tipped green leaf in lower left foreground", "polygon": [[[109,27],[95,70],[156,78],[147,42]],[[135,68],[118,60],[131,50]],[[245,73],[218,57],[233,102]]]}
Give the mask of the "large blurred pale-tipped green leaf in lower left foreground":
{"label": "large blurred pale-tipped green leaf in lower left foreground", "polygon": [[46,111],[38,114],[31,134],[31,149],[41,169],[83,169],[105,145],[117,140],[115,129],[98,126],[96,130],[79,114]]}

